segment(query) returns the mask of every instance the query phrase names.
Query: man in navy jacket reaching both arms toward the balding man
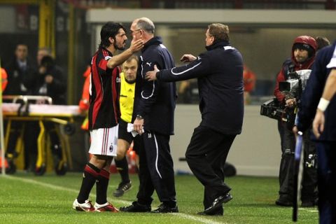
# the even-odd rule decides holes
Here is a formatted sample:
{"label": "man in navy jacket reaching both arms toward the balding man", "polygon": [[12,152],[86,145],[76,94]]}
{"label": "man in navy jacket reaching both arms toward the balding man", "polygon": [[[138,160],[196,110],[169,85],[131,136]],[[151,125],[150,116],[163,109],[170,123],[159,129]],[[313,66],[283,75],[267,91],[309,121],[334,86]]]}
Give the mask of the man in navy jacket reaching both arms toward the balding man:
{"label": "man in navy jacket reaching both arms toward the balding man", "polygon": [[229,28],[211,24],[206,33],[207,52],[198,57],[183,55],[186,66],[150,71],[148,80],[177,81],[197,78],[202,122],[195,128],[186,151],[193,174],[204,185],[204,211],[223,215],[222,204],[232,199],[224,183],[223,165],[232,142],[241,133],[244,116],[243,59],[229,45]]}

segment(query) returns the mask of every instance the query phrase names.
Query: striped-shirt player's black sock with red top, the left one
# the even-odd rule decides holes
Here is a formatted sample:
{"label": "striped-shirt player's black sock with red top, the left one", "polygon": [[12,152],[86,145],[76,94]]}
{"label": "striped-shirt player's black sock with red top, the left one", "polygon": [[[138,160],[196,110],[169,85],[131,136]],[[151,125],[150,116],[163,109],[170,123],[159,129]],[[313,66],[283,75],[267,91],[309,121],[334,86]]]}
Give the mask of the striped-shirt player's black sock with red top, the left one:
{"label": "striped-shirt player's black sock with red top, the left one", "polygon": [[82,186],[80,186],[77,197],[78,203],[82,204],[89,198],[90,191],[92,190],[94,183],[97,180],[99,172],[100,169],[98,167],[95,167],[90,162],[87,162],[83,172]]}

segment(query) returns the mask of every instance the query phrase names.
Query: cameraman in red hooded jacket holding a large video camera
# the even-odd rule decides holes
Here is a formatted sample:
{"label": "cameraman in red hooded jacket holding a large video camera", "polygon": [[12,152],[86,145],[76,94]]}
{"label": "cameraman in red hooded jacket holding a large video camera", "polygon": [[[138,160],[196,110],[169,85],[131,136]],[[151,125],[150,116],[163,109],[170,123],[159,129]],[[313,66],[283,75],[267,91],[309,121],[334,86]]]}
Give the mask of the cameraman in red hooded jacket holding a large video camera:
{"label": "cameraman in red hooded jacket holding a large video camera", "polygon": [[[295,118],[297,110],[297,96],[283,94],[279,89],[279,83],[289,79],[288,74],[293,71],[310,69],[316,55],[316,41],[311,36],[297,36],[293,43],[291,59],[283,62],[281,71],[276,78],[274,96],[283,106],[289,117]],[[292,132],[294,119],[288,119],[286,123],[278,120],[278,130],[281,138],[281,163],[279,170],[279,199],[275,204],[290,207],[293,205],[294,192],[294,153],[295,136]],[[316,149],[309,140],[309,131],[304,132],[304,174],[302,180],[302,207],[313,207],[316,204]]]}

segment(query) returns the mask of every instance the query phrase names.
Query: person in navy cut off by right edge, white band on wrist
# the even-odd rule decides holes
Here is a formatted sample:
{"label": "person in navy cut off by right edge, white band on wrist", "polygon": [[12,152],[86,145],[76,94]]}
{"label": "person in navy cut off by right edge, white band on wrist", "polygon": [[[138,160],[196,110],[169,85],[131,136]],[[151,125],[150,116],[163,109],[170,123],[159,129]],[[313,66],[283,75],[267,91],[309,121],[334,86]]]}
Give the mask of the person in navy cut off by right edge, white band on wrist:
{"label": "person in navy cut off by right edge, white band on wrist", "polygon": [[[316,141],[318,158],[320,223],[328,224],[336,223],[336,98],[326,100],[324,98],[320,99],[320,97],[328,76],[335,76],[335,47],[336,42],[318,51],[311,75],[302,94],[302,105],[297,115],[297,130],[304,132],[309,129],[315,113],[316,116],[321,116],[321,113],[324,112],[324,130],[323,132],[319,130],[321,133],[316,133],[318,138],[312,137],[312,140]],[[325,97],[324,93],[323,97]],[[315,121],[313,129],[317,130]]]}

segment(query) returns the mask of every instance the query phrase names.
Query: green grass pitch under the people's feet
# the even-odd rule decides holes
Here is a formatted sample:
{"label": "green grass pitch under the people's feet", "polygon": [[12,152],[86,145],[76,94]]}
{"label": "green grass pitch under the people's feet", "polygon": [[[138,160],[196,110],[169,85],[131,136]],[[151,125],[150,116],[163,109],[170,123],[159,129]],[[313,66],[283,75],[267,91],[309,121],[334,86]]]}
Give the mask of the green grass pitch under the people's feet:
{"label": "green grass pitch under the people's feet", "polygon": [[[123,197],[113,197],[118,186],[118,174],[111,176],[109,200],[116,207],[135,200],[139,180],[131,175],[133,189]],[[194,176],[176,176],[179,214],[84,213],[71,209],[81,183],[80,173],[65,176],[45,174],[34,176],[18,172],[0,176],[0,223],[292,223],[291,208],[276,207],[278,179],[251,176],[228,178],[234,199],[225,204],[224,216],[197,216],[202,211],[203,187]],[[90,200],[94,202],[95,190]],[[153,208],[158,197],[153,195]],[[318,223],[316,208],[300,209],[297,223]]]}

